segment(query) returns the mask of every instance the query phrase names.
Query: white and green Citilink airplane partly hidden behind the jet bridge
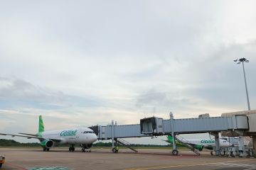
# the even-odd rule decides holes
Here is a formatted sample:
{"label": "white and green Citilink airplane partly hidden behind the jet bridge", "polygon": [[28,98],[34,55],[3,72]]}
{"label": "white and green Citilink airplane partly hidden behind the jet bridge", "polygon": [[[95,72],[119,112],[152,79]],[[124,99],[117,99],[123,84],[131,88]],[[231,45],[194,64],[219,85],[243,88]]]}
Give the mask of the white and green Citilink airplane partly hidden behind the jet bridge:
{"label": "white and green Citilink airplane partly hidden behind the jet bridge", "polygon": [[[167,136],[167,140],[164,140],[165,142],[171,143],[173,142],[174,138],[172,136]],[[199,151],[202,151],[203,148],[213,150],[213,147],[215,147],[215,140],[210,139],[186,139],[186,141],[183,141],[183,143],[191,145],[193,148],[198,149]],[[183,147],[183,143],[176,141],[176,144]],[[230,142],[227,140],[220,139],[220,147],[230,147],[232,146]]]}

